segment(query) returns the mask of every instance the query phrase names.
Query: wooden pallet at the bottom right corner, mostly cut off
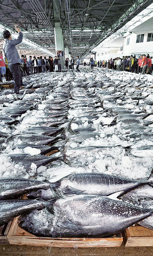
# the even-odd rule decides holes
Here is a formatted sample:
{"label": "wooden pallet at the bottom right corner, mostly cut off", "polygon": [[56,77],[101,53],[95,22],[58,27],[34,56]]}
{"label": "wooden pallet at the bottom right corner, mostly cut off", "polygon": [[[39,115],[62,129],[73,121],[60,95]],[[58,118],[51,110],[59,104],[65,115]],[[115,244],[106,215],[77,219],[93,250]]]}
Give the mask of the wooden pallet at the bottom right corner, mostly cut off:
{"label": "wooden pallet at the bottom right corner, mostly cut off", "polygon": [[153,230],[142,226],[131,226],[123,233],[124,244],[127,247],[153,246]]}

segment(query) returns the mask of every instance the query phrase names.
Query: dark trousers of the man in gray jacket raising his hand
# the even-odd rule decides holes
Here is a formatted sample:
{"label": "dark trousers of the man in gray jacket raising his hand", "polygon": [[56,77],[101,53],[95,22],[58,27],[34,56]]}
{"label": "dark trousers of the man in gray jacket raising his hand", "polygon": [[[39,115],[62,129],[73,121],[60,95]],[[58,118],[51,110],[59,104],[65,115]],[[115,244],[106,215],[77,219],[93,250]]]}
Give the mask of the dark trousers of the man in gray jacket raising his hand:
{"label": "dark trousers of the man in gray jacket raising his hand", "polygon": [[19,94],[20,87],[23,84],[19,65],[20,63],[9,65],[9,70],[11,71],[14,78],[14,82],[15,82],[14,93],[17,93],[17,94]]}

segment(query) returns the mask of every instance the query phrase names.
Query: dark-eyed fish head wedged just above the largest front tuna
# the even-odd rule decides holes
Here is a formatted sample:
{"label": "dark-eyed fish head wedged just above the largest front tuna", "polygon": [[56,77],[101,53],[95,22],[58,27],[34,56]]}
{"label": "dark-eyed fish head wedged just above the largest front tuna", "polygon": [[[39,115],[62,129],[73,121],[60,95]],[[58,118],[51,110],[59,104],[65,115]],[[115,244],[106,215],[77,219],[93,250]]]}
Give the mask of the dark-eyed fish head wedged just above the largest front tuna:
{"label": "dark-eyed fish head wedged just above the largest front tuna", "polygon": [[29,199],[41,198],[45,201],[50,200],[55,197],[55,193],[50,188],[40,189],[37,191],[32,191],[26,195]]}

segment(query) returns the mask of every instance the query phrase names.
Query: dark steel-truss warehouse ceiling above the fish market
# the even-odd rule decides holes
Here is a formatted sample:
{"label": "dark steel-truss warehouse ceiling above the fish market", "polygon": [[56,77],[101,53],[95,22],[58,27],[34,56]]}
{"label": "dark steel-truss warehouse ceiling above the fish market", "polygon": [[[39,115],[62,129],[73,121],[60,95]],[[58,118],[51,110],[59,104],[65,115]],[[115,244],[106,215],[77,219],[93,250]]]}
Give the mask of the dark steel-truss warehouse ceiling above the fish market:
{"label": "dark steel-truss warehouse ceiling above the fish market", "polygon": [[84,57],[143,11],[153,0],[0,0],[0,24],[21,27],[24,38],[55,53],[54,24],[60,22],[64,45]]}

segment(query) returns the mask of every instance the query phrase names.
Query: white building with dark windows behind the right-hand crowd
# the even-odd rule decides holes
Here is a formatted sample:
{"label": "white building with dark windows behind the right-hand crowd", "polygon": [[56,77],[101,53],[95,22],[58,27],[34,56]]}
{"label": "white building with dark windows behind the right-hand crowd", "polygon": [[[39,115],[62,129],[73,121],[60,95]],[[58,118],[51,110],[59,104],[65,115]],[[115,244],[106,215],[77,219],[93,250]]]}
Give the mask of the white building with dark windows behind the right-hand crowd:
{"label": "white building with dark windows behind the right-hand crowd", "polygon": [[153,18],[143,22],[129,32],[106,44],[102,42],[94,49],[96,61],[108,61],[110,58],[149,53],[153,57]]}

